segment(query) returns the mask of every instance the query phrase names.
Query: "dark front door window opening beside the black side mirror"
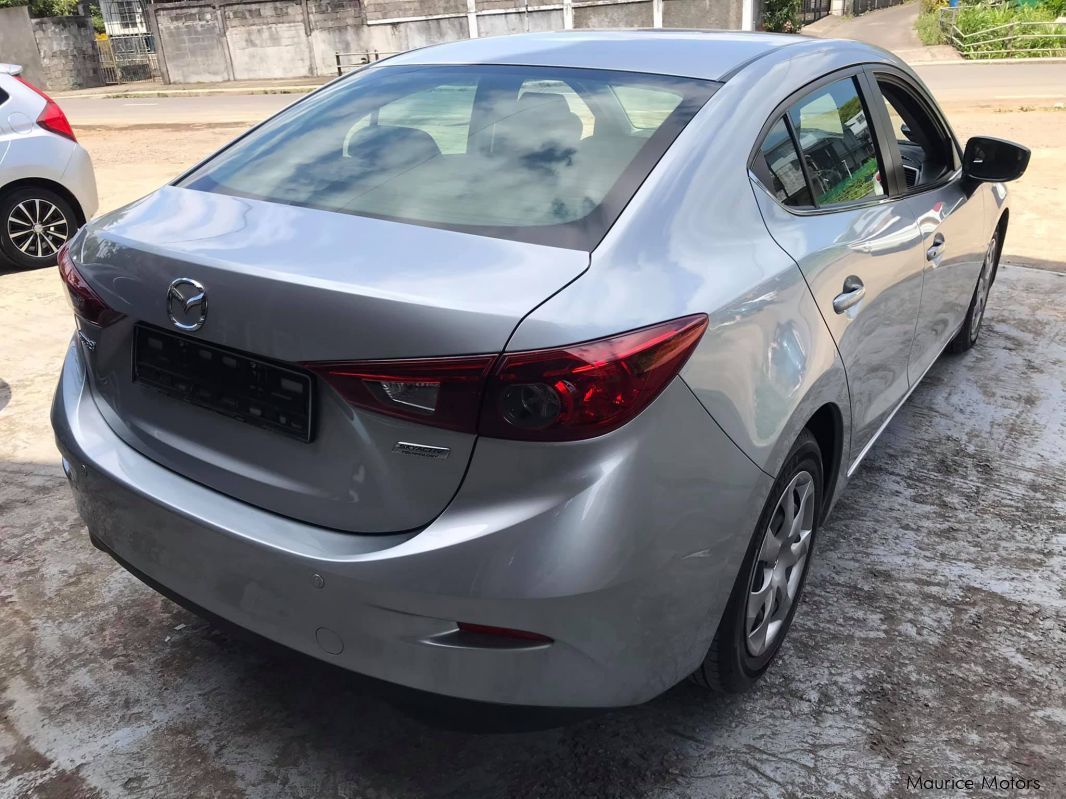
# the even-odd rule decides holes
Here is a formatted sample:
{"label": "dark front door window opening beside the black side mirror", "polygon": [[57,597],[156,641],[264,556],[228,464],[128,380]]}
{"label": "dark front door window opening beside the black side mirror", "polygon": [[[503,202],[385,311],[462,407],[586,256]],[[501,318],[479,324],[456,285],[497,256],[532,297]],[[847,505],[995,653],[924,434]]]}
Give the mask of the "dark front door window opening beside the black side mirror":
{"label": "dark front door window opening beside the black side mirror", "polygon": [[935,183],[954,170],[954,146],[936,117],[912,95],[897,83],[878,80],[900,148],[903,177],[907,187]]}

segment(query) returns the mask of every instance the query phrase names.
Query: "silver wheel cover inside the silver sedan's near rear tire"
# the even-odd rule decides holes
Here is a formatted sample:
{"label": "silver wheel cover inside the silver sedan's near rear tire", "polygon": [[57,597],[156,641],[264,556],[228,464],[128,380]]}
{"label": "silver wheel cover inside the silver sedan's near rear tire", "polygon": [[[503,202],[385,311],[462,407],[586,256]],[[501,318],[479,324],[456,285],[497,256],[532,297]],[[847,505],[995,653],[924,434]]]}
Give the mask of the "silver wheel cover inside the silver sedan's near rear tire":
{"label": "silver wheel cover inside the silver sedan's near rear tire", "polygon": [[800,472],[781,492],[752,569],[745,614],[745,640],[753,657],[780,635],[807,568],[814,531],[814,478]]}

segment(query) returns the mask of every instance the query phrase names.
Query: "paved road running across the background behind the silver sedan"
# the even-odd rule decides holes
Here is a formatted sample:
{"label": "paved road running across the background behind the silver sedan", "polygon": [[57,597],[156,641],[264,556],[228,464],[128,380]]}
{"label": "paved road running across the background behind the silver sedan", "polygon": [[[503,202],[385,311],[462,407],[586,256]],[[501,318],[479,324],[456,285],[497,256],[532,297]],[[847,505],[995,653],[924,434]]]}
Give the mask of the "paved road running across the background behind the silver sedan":
{"label": "paved road running across the background behind the silver sedan", "polygon": [[[936,64],[918,67],[949,105],[1049,105],[1066,102],[1066,63]],[[297,95],[227,95],[158,98],[70,98],[63,109],[76,126],[252,124],[298,99]]]}

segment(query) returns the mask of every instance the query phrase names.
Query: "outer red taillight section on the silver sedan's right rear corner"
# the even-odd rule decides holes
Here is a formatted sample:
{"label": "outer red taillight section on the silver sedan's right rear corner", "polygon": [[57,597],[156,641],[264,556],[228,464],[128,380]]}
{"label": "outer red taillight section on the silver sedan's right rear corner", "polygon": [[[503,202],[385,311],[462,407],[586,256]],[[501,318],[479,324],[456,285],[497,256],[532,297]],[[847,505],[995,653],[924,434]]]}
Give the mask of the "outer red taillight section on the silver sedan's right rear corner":
{"label": "outer red taillight section on the silver sedan's right rear corner", "polygon": [[706,329],[700,313],[610,339],[504,355],[488,381],[479,433],[575,441],[620,427],[666,388]]}

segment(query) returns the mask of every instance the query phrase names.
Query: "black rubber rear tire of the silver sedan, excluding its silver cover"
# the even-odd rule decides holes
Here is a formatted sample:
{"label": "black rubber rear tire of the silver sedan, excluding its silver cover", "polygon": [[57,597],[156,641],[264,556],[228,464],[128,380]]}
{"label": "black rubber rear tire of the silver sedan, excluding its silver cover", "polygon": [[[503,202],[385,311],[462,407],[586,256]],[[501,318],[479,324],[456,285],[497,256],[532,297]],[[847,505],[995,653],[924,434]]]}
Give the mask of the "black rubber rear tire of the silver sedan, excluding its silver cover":
{"label": "black rubber rear tire of the silver sedan, excluding its silver cover", "polygon": [[[792,485],[793,480],[803,479],[802,475],[804,474],[808,475],[812,483],[813,495],[810,498],[810,502],[812,503],[813,516],[806,556],[801,567],[802,573],[798,575],[794,597],[788,606],[787,614],[779,620],[780,625],[776,629],[773,640],[765,645],[764,650],[753,654],[748,643],[750,630],[747,622],[747,605],[748,596],[752,593],[753,586],[756,586],[756,581],[761,583],[764,580],[766,567],[759,560],[763,550],[763,541],[768,532],[772,533],[771,525],[778,518],[779,503],[784,501],[786,489]],[[807,484],[804,483],[804,485]],[[780,651],[781,642],[788,635],[789,627],[792,626],[796,607],[803,598],[803,587],[814,552],[814,538],[821,524],[822,486],[822,453],[810,431],[804,430],[785,459],[785,464],[774,482],[766,504],[759,515],[759,522],[744,555],[740,573],[733,583],[732,592],[726,604],[725,613],[722,615],[722,621],[718,622],[714,640],[711,642],[702,665],[692,674],[692,680],[697,685],[720,694],[740,694],[750,688],[774,662],[778,651]],[[756,574],[757,566],[759,567],[759,575]],[[789,580],[791,581],[791,576]],[[752,593],[752,596],[755,594]],[[769,614],[771,617],[774,616],[773,610],[779,607],[776,600],[772,600],[772,602],[774,604]],[[762,617],[757,617],[756,626],[758,626],[759,618]]]}

